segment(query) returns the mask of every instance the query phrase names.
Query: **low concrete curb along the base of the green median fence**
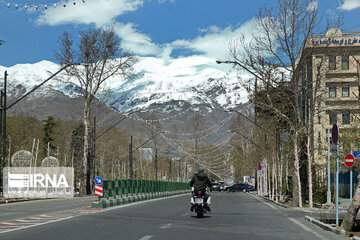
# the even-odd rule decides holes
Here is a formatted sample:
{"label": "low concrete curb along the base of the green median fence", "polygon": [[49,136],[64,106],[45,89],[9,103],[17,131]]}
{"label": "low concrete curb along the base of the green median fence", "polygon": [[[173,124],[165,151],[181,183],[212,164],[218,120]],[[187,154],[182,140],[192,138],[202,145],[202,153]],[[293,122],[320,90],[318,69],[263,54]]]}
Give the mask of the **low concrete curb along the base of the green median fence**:
{"label": "low concrete curb along the base of the green median fence", "polygon": [[144,194],[144,195],[137,195],[137,196],[134,195],[134,196],[128,196],[128,197],[122,197],[122,198],[113,198],[113,199],[102,199],[100,201],[93,202],[91,204],[91,207],[107,208],[107,207],[113,207],[113,206],[123,205],[123,204],[127,204],[127,203],[150,200],[150,199],[154,199],[154,198],[170,197],[170,196],[179,195],[179,194],[188,193],[188,192],[190,192],[190,190],[176,191],[176,192],[163,192],[163,193],[150,193],[150,194]]}

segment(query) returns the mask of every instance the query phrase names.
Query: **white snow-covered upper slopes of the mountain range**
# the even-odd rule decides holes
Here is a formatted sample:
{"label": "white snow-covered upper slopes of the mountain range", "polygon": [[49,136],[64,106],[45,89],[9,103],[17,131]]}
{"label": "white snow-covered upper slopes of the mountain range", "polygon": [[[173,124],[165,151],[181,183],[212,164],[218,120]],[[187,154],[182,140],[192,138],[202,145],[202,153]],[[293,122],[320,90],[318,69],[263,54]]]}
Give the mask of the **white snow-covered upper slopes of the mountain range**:
{"label": "white snow-covered upper slopes of the mountain range", "polygon": [[[146,57],[141,58],[134,68],[137,78],[109,79],[106,91],[100,92],[98,99],[120,112],[146,109],[158,113],[181,111],[189,107],[193,111],[211,112],[246,102],[246,91],[241,89],[236,74],[222,71],[213,59],[188,57],[164,61]],[[49,61],[8,68],[0,66],[0,73],[8,73],[8,102],[30,91],[59,69],[59,65]],[[58,74],[57,78],[62,78],[62,74]],[[2,82],[1,76],[0,79]],[[81,96],[81,91],[74,85],[51,80],[29,95],[27,101],[54,95],[57,101],[61,101],[61,95],[75,99]]]}

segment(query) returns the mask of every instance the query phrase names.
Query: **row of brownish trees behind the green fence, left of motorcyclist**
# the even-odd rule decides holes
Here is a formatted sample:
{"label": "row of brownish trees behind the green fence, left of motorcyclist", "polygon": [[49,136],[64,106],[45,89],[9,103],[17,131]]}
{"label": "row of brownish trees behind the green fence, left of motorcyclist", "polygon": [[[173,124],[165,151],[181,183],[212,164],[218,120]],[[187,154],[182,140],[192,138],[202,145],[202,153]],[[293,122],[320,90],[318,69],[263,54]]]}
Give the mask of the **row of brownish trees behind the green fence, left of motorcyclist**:
{"label": "row of brownish trees behind the green fence, left of motorcyclist", "polygon": [[[77,182],[81,180],[84,148],[84,124],[82,122],[63,121],[51,116],[41,121],[22,113],[8,116],[7,122],[7,166],[12,165],[11,156],[15,152],[27,150],[33,152],[32,166],[40,166],[41,159],[52,156],[58,159],[60,166],[73,166],[75,180]],[[91,127],[93,128],[93,126]],[[103,133],[110,127],[101,126],[98,127],[97,131]],[[143,136],[147,135],[145,131],[142,134]],[[143,137],[135,138],[136,146],[143,139]],[[129,133],[119,128],[112,128],[97,139],[96,156],[91,156],[89,164],[91,179],[96,175],[109,179],[130,178],[129,141]],[[35,150],[33,150],[34,142]],[[166,176],[168,180],[180,181],[185,177],[184,159],[165,155],[164,150],[159,151],[157,157],[159,178]],[[150,154],[150,159],[149,156],[144,157],[142,151],[137,151],[134,154],[134,178],[155,179],[153,158],[154,153]]]}

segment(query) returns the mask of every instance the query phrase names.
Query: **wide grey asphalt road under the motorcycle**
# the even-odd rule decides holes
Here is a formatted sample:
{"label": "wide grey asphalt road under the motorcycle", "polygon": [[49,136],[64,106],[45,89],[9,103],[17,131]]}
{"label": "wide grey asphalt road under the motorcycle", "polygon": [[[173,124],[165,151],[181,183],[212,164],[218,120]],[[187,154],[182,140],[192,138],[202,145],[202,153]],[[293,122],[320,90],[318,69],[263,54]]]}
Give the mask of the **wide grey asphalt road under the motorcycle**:
{"label": "wide grey asphalt road under the motorcycle", "polygon": [[[62,214],[49,223],[0,232],[0,239],[346,239],[306,222],[300,211],[284,209],[251,194],[211,195],[212,212],[201,219],[190,212],[189,195],[182,195],[86,214]],[[55,218],[52,213],[42,216]]]}

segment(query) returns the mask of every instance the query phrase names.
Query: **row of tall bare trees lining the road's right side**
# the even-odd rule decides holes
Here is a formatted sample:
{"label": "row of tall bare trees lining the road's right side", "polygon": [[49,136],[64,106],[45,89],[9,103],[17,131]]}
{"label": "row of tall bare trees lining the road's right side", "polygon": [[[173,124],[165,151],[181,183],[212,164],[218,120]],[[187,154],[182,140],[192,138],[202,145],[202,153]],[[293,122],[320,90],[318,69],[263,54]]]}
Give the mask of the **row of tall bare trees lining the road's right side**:
{"label": "row of tall bare trees lining the road's right side", "polygon": [[[234,67],[239,71],[245,69],[253,76],[240,81],[254,104],[255,121],[273,133],[272,142],[279,141],[275,139],[277,136],[290,136],[281,151],[275,144],[273,148],[268,148],[272,149],[270,152],[263,151],[265,155],[262,159],[267,159],[267,170],[273,176],[275,189],[282,189],[278,185],[282,185],[281,176],[285,169],[292,172],[293,201],[300,207],[305,202],[304,196],[308,197],[309,206],[313,207],[312,130],[317,97],[325,91],[320,88],[320,81],[325,74],[323,64],[326,56],[319,60],[313,82],[306,82],[303,74],[310,70],[298,68],[299,61],[307,58],[307,53],[303,51],[306,39],[327,32],[330,27],[339,27],[342,22],[341,16],[337,21],[321,22],[318,8],[311,3],[306,0],[278,0],[274,8],[264,6],[255,18],[255,27],[250,33],[252,40],[247,41],[244,35],[230,44]],[[255,132],[251,134],[256,138]],[[266,135],[269,142],[271,136]],[[290,167],[284,156],[289,159]],[[304,168],[307,170],[303,171]],[[307,194],[304,194],[304,189],[308,190]]]}

